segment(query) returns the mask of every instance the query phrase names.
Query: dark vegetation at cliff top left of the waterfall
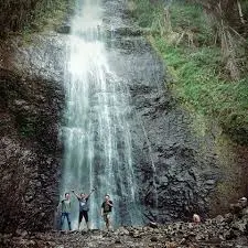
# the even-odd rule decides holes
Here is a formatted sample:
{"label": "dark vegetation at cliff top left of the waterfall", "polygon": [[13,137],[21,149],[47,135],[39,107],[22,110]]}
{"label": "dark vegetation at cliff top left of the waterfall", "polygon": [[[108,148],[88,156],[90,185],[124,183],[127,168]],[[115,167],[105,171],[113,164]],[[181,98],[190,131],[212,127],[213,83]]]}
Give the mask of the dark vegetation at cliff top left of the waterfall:
{"label": "dark vegetation at cliff top left of the waterfall", "polygon": [[1,0],[0,37],[60,24],[68,4],[68,0]]}

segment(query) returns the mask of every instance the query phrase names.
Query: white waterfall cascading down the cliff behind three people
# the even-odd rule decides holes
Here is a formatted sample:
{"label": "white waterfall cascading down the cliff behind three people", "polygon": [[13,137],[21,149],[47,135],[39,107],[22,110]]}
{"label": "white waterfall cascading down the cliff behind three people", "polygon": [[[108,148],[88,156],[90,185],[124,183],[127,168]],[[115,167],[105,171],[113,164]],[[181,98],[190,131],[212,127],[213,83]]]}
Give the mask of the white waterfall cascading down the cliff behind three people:
{"label": "white waterfall cascading down the cliff behind three people", "polygon": [[[100,205],[114,201],[115,225],[141,223],[128,122],[129,94],[125,79],[110,68],[101,39],[101,1],[78,0],[72,23],[65,89],[67,108],[61,194],[75,188],[90,197],[91,228],[103,227]],[[78,204],[73,203],[73,226]]]}

